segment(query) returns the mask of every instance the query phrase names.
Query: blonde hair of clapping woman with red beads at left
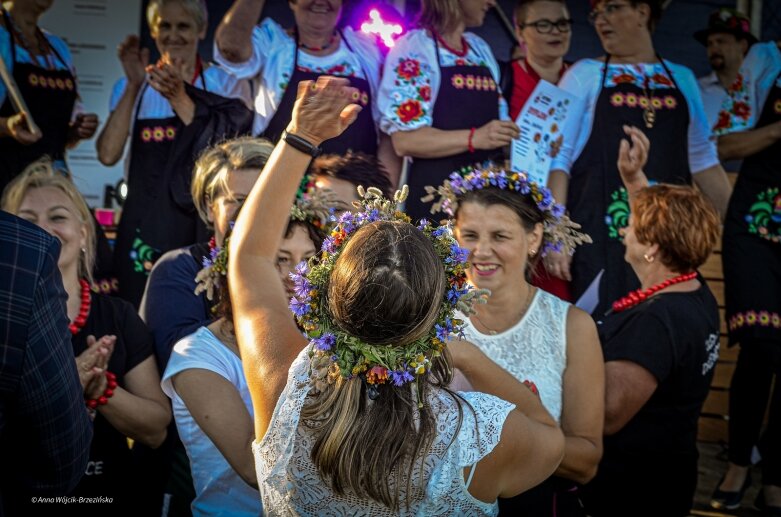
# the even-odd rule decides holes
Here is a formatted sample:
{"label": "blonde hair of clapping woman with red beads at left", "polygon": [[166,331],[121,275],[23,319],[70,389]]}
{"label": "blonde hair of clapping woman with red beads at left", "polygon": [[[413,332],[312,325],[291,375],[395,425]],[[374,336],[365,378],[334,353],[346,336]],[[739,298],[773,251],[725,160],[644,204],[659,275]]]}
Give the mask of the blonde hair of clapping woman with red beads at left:
{"label": "blonde hair of clapping woman with red beads at left", "polygon": [[24,171],[8,184],[3,191],[0,207],[6,212],[18,214],[27,193],[35,188],[52,187],[60,190],[76,209],[76,216],[87,229],[86,251],[79,256],[79,278],[86,278],[92,283],[92,270],[95,267],[95,223],[92,220],[87,203],[76,188],[76,185],[63,176],[52,165],[51,159],[44,157],[28,165]]}

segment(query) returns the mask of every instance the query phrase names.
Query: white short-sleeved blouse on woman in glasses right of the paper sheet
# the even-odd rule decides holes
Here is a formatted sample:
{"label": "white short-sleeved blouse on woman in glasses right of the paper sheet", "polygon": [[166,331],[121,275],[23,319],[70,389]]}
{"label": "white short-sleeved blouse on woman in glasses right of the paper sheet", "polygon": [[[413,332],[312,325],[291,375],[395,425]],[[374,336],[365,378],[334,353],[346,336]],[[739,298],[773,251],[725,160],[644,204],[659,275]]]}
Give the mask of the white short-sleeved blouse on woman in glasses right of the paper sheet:
{"label": "white short-sleeved blouse on woman in glasses right of the paper sheet", "polygon": [[[680,88],[681,94],[686,98],[689,108],[689,169],[696,174],[709,167],[719,164],[716,144],[711,139],[711,131],[705,110],[700,98],[700,90],[697,80],[691,70],[683,65],[677,65],[665,60],[667,68]],[[580,156],[589,137],[594,123],[594,112],[597,99],[602,89],[602,70],[605,63],[596,59],[582,59],[572,65],[559,81],[559,87],[577,95],[584,100],[584,113],[580,118],[580,124],[573,124],[569,132],[564,134],[564,143],[561,151],[553,159],[551,169],[561,169],[569,172],[572,164]],[[605,86],[610,87],[615,77],[633,76],[638,86],[643,86],[646,77],[650,78],[649,86],[660,92],[666,88],[674,88],[667,79],[667,72],[661,63],[642,63],[628,65],[610,63]],[[655,80],[654,78],[659,78]],[[651,149],[653,152],[653,148]]]}

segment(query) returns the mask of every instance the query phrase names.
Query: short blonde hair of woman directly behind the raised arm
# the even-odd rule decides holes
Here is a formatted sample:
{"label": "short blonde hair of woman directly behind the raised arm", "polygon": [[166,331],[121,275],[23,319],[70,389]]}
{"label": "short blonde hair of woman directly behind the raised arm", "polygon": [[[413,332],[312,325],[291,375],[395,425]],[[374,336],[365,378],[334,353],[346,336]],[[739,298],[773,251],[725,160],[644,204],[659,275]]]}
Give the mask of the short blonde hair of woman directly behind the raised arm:
{"label": "short blonde hair of woman directly behind the raised arm", "polygon": [[220,193],[229,194],[228,176],[240,169],[262,169],[274,144],[265,138],[244,136],[203,151],[195,162],[190,193],[201,220],[209,223],[209,205]]}

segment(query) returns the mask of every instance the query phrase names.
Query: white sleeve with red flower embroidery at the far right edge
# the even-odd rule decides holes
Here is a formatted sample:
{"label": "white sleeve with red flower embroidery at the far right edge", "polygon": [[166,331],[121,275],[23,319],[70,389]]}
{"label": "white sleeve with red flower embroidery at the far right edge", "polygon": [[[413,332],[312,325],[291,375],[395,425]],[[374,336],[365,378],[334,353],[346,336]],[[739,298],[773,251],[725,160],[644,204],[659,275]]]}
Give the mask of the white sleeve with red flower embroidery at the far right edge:
{"label": "white sleeve with red flower embroidery at the far right edge", "polygon": [[730,86],[714,129],[717,135],[746,131],[759,121],[770,89],[779,81],[781,51],[775,41],[755,43]]}

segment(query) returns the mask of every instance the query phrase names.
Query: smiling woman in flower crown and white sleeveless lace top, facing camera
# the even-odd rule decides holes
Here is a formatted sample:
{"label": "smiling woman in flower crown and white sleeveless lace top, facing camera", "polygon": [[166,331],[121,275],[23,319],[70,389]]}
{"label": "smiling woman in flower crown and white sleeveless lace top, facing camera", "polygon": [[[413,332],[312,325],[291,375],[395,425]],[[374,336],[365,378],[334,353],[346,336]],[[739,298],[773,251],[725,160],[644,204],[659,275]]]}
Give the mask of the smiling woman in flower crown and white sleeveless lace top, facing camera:
{"label": "smiling woman in flower crown and white sleeveless lace top, facing camera", "polygon": [[499,169],[458,173],[432,194],[453,217],[459,245],[469,250],[469,283],[488,289],[485,305],[465,319],[466,339],[519,381],[533,382],[561,425],[564,459],[554,476],[511,499],[507,515],[583,515],[577,489],[594,477],[602,455],[604,375],[591,317],[529,282],[549,251],[590,242],[563,215],[548,189]]}

